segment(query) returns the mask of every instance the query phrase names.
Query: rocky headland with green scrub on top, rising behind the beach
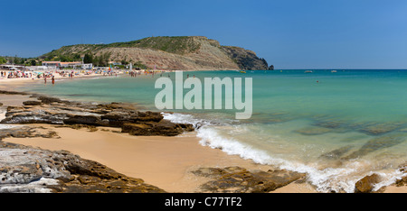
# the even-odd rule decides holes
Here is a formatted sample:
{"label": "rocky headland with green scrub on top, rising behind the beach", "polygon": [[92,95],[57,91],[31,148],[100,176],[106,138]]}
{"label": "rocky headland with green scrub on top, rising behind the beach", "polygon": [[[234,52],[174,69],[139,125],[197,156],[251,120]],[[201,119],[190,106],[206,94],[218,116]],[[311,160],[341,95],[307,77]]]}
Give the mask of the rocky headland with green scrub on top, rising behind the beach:
{"label": "rocky headland with green scrub on top, rising behind the beach", "polygon": [[269,69],[267,61],[251,50],[221,46],[219,41],[202,36],[149,37],[110,44],[64,46],[42,58],[58,60],[58,57],[78,57],[85,53],[109,61],[141,62],[151,69]]}

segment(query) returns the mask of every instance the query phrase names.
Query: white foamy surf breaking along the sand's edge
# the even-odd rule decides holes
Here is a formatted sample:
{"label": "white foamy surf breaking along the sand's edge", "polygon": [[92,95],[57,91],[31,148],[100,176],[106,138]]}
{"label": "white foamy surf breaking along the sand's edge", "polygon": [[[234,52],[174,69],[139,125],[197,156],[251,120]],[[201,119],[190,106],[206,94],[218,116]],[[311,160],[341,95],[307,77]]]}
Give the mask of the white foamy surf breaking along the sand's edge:
{"label": "white foamy surf breaking along the sand's edge", "polygon": [[[374,190],[391,185],[396,179],[407,176],[407,173],[402,173],[399,170],[366,172],[365,168],[371,165],[369,161],[348,161],[344,165],[335,168],[321,168],[317,162],[302,163],[299,161],[288,161],[287,159],[273,157],[268,151],[257,149],[249,143],[240,142],[233,137],[225,137],[220,133],[222,125],[213,124],[212,121],[187,114],[163,113],[163,115],[165,119],[173,123],[193,124],[196,136],[201,139],[199,143],[203,146],[220,149],[227,154],[238,155],[242,159],[251,160],[263,165],[270,165],[281,170],[306,173],[308,175],[308,182],[315,186],[319,192],[335,191],[352,193],[355,191],[355,183],[358,180],[373,173],[377,173],[383,179],[374,186]],[[361,174],[361,172],[364,173]]]}

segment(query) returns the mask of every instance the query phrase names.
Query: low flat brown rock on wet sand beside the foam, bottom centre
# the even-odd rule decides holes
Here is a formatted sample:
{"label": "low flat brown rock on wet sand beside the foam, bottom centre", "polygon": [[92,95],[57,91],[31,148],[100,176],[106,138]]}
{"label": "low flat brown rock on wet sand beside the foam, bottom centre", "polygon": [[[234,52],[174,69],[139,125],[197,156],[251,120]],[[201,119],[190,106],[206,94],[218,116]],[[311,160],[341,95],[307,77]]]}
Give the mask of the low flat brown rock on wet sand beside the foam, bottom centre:
{"label": "low flat brown rock on wet sand beside the foam, bottom centre", "polygon": [[213,193],[267,193],[306,175],[289,170],[249,171],[241,167],[200,168],[193,173],[213,179],[201,189]]}

